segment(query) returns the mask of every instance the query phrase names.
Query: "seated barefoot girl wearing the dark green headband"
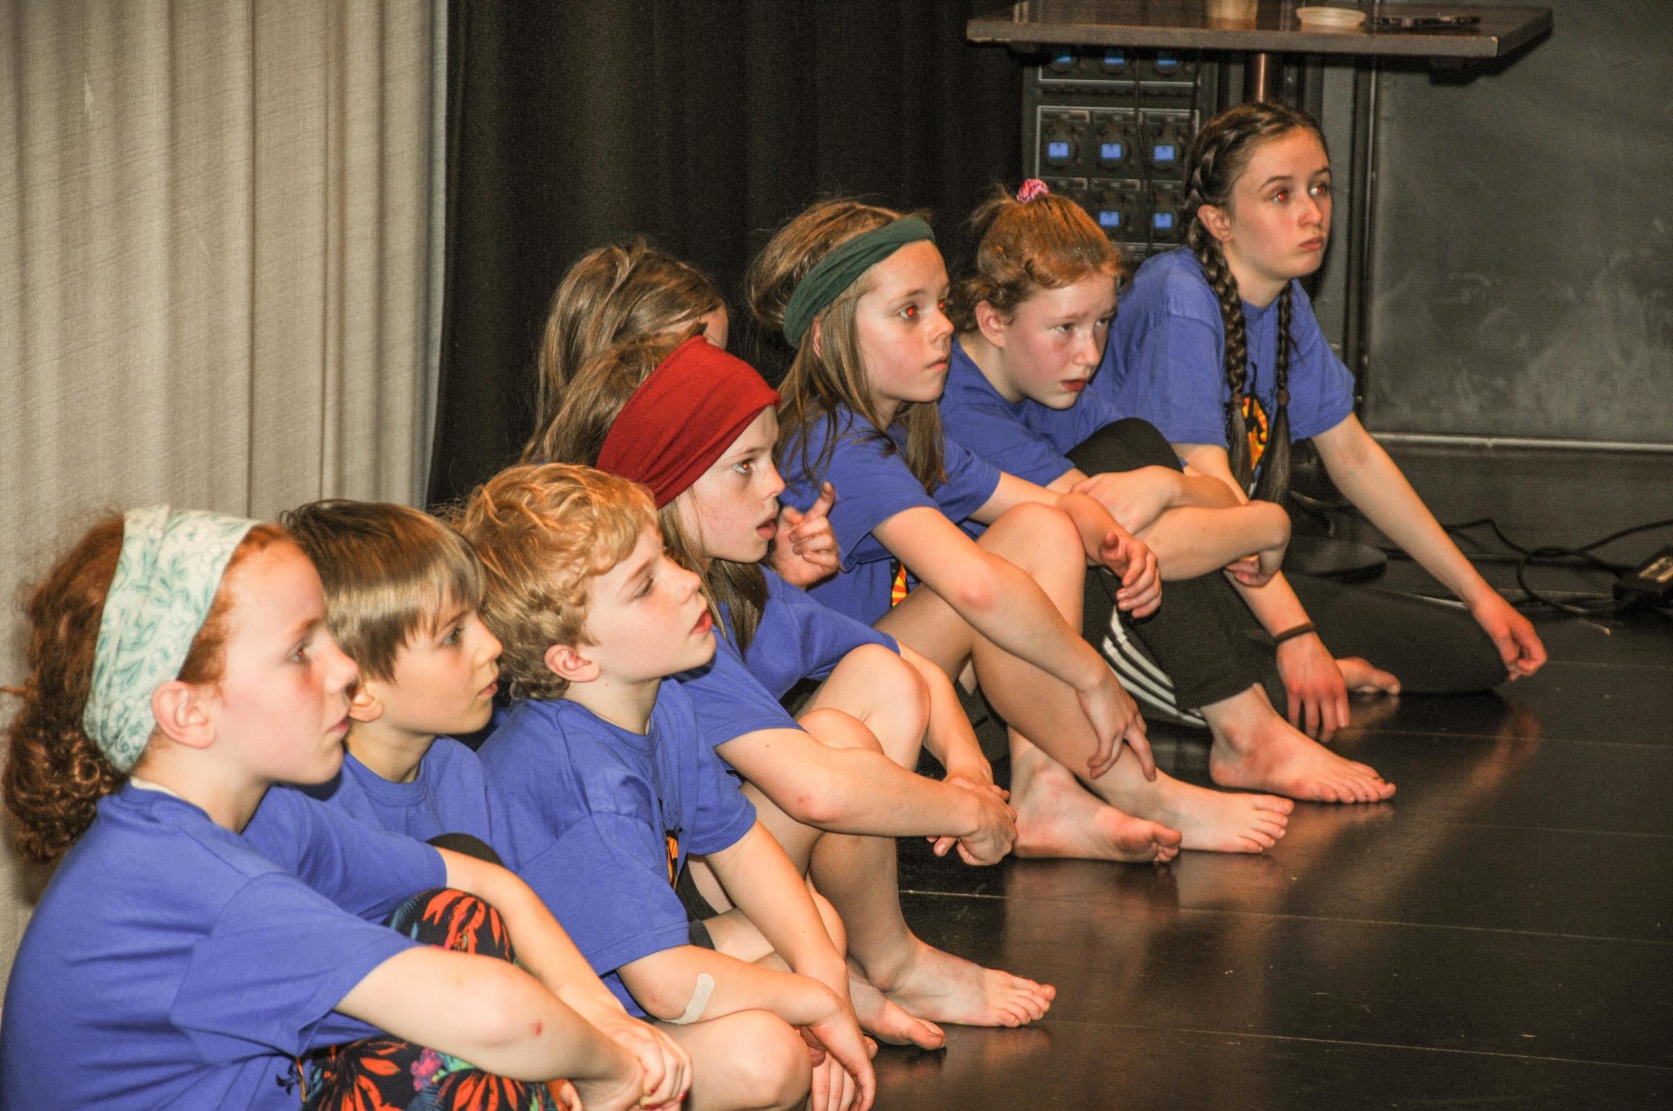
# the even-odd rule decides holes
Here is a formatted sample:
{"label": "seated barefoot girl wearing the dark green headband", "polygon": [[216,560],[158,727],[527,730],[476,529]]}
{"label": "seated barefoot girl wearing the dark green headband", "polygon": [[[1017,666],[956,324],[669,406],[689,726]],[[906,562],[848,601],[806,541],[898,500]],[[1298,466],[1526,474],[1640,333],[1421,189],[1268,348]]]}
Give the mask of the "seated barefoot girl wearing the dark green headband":
{"label": "seated barefoot girl wearing the dark green headband", "polygon": [[[773,236],[748,288],[755,318],[793,348],[780,403],[785,497],[808,505],[821,482],[836,489],[843,566],[810,592],[949,678],[974,668],[1012,726],[1017,852],[1168,860],[1181,843],[1270,848],[1293,803],[1158,773],[1133,699],[1081,639],[1087,561],[1119,576],[1119,606],[1148,614],[1154,556],[1091,497],[1004,475],[942,435],[934,402],[952,325],[929,224],[815,204]],[[987,525],[979,540],[965,520]],[[1119,745],[1138,760],[1118,760]]]}

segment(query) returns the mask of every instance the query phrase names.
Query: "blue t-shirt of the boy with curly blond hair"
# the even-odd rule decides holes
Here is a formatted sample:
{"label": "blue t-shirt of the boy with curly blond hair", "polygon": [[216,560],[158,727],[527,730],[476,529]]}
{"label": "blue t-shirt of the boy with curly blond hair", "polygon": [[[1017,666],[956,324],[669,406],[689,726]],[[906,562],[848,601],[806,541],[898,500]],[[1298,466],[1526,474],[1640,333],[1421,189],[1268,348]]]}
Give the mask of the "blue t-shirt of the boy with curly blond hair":
{"label": "blue t-shirt of the boy with curly blond hair", "polygon": [[641,736],[570,701],[519,703],[482,745],[500,842],[629,1012],[624,964],[688,944],[674,877],[728,848],[755,806],[664,679]]}

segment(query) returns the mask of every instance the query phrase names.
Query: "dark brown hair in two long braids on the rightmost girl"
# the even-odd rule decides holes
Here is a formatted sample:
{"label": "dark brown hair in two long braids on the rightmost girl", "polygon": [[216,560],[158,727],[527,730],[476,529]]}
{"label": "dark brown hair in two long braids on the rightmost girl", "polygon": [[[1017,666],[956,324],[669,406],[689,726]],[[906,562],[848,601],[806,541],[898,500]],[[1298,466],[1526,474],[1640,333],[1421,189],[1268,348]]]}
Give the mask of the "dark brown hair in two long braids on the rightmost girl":
{"label": "dark brown hair in two long braids on the rightmost girl", "polygon": [[1186,244],[1203,266],[1208,286],[1220,301],[1220,318],[1226,333],[1225,373],[1230,398],[1226,400],[1226,455],[1231,474],[1253,497],[1280,502],[1290,490],[1290,318],[1293,313],[1293,283],[1285,283],[1278,294],[1278,363],[1273,368],[1276,410],[1266,433],[1266,452],[1261,458],[1260,482],[1253,475],[1248,422],[1243,417],[1248,387],[1248,331],[1243,321],[1243,298],[1238,283],[1226,264],[1220,241],[1210,234],[1198,216],[1205,204],[1225,209],[1231,201],[1231,187],[1248,167],[1255,149],[1290,134],[1310,131],[1325,146],[1325,136],[1312,115],[1287,104],[1240,104],[1208,120],[1191,144],[1186,174],[1184,207],[1191,212]]}

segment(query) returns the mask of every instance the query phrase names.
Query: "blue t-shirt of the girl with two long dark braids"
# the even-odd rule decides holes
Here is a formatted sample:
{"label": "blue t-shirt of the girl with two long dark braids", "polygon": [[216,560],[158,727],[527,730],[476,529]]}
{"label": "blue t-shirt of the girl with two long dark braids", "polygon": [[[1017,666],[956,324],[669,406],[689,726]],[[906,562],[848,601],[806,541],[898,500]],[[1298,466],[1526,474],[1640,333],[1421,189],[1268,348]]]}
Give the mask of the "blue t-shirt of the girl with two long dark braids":
{"label": "blue t-shirt of the girl with two long dark braids", "polygon": [[[1353,413],[1353,375],[1330,350],[1298,281],[1290,283],[1290,438],[1328,432]],[[1265,443],[1276,412],[1278,301],[1243,303],[1248,375],[1261,415],[1250,422]],[[1220,301],[1196,256],[1184,249],[1144,259],[1109,330],[1091,390],[1129,417],[1151,422],[1174,443],[1226,443],[1226,335]]]}

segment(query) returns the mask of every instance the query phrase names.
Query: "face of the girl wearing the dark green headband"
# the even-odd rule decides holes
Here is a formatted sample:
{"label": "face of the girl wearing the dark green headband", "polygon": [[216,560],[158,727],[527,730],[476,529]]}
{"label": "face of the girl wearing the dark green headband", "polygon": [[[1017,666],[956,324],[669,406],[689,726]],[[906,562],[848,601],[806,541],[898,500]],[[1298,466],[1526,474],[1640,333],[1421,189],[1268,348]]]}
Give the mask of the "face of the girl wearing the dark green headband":
{"label": "face of the girl wearing the dark green headband", "polygon": [[903,402],[934,402],[947,387],[952,321],[947,266],[929,239],[908,243],[867,271],[870,289],[855,305],[855,331],[867,388],[885,413]]}

